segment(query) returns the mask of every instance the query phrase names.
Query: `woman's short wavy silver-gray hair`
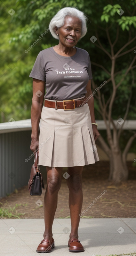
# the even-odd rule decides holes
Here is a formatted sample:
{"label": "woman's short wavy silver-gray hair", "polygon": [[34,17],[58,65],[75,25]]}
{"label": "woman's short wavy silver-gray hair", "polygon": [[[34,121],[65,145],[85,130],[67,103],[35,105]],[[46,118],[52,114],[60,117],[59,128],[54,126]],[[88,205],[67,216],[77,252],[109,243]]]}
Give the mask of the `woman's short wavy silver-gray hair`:
{"label": "woman's short wavy silver-gray hair", "polygon": [[79,18],[82,22],[81,37],[80,38],[82,38],[83,36],[86,35],[86,32],[87,32],[87,27],[86,27],[87,17],[85,16],[85,14],[83,12],[79,11],[75,7],[64,7],[56,13],[56,15],[51,19],[50,24],[49,24],[50,33],[54,38],[59,39],[59,36],[57,36],[56,33],[55,33],[55,27],[61,28],[64,25],[65,16]]}

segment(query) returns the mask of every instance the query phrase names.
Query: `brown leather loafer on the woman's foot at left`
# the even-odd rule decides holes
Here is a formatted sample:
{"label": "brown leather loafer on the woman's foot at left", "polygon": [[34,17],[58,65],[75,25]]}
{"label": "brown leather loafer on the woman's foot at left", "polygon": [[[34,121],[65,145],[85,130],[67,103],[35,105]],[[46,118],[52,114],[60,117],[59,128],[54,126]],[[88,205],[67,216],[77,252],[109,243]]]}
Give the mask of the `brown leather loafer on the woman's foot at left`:
{"label": "brown leather loafer on the woman's foot at left", "polygon": [[55,245],[53,238],[51,242],[48,239],[43,239],[37,247],[37,253],[51,253],[51,249],[54,247]]}

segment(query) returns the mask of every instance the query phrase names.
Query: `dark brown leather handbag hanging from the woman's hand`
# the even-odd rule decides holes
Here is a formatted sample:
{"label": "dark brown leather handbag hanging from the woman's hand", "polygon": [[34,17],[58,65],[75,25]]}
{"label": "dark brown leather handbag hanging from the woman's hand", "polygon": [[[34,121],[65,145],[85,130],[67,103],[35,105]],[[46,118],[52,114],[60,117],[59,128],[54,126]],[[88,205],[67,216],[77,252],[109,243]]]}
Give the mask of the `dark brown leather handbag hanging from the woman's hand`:
{"label": "dark brown leather handbag hanging from the woman's hand", "polygon": [[[42,188],[45,188],[42,180],[42,175],[40,173],[40,165],[38,164],[39,160],[39,151],[36,151],[34,154],[34,164],[31,168],[30,179],[28,182],[28,190],[30,190],[31,196],[41,196]],[[30,189],[31,188],[31,189]]]}

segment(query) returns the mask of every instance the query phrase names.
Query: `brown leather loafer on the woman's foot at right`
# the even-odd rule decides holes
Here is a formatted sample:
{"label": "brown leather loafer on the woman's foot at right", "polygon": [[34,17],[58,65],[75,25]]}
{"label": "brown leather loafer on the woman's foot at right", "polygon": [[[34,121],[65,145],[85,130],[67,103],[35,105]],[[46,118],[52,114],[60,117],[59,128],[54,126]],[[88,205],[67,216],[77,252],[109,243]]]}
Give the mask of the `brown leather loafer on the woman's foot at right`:
{"label": "brown leather loafer on the woman's foot at right", "polygon": [[81,251],[85,251],[80,241],[76,238],[73,238],[70,242],[68,242],[69,251],[71,253],[80,253]]}

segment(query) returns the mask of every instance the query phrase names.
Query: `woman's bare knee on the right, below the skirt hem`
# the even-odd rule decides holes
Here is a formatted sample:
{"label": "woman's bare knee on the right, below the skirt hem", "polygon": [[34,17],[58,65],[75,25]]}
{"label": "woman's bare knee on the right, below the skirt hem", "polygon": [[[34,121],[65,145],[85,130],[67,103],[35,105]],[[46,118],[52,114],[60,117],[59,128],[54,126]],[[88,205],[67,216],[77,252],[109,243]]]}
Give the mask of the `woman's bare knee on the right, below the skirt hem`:
{"label": "woman's bare knee on the right, below the skirt hem", "polygon": [[73,189],[78,192],[82,188],[82,176],[81,174],[71,174],[67,179],[67,185],[69,189]]}

